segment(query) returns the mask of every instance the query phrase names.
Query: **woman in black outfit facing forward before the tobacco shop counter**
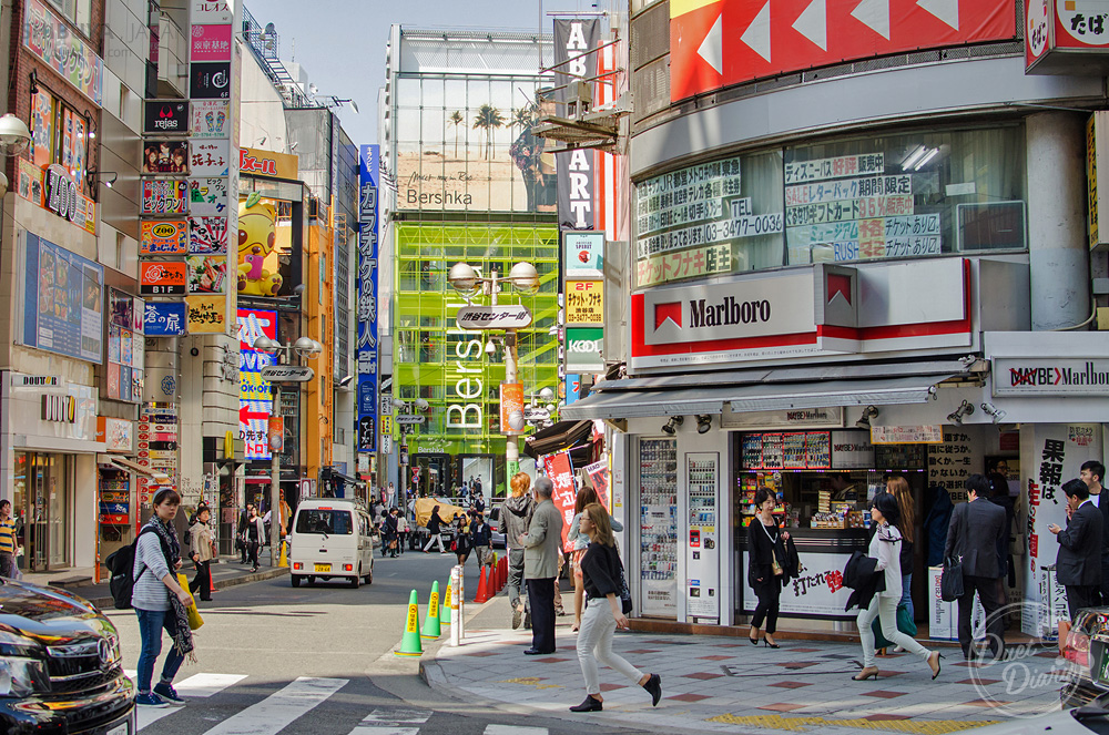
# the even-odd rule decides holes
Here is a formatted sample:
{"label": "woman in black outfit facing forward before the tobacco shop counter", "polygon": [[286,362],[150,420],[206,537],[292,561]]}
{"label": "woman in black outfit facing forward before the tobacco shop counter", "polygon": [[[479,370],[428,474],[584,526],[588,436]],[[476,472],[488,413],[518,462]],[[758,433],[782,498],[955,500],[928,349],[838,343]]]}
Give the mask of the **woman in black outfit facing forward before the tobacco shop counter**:
{"label": "woman in black outfit facing forward before the tobacco shop counter", "polygon": [[759,605],[751,617],[751,632],[747,640],[759,645],[759,632],[766,621],[763,643],[772,649],[781,646],[774,641],[777,631],[779,603],[782,598],[782,585],[785,583],[785,542],[790,533],[777,528],[774,520],[776,499],[766,490],[760,488],[755,493],[756,515],[747,527],[747,549],[751,561],[747,564],[747,583],[759,598]]}

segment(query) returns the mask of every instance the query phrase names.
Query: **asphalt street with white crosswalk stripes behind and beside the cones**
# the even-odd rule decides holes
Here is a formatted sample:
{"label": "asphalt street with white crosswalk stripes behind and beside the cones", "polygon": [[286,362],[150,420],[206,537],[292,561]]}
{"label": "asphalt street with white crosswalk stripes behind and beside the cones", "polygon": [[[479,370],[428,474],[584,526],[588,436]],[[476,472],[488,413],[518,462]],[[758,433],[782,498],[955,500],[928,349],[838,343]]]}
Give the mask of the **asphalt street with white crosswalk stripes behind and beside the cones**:
{"label": "asphalt street with white crosswalk stripes behind and beside the cones", "polygon": [[[410,591],[417,590],[423,615],[431,582],[445,584],[454,563],[454,554],[378,557],[374,583],[358,590],[318,582],[294,590],[282,576],[217,592],[214,602],[201,608],[205,622],[196,633],[197,661],[186,662],[176,677],[187,704],[140,707],[140,731],[159,735],[576,732],[572,723],[548,723],[451,700],[419,678],[419,659],[399,659],[390,652],[404,630]],[[466,583],[472,599],[477,586],[472,559]],[[123,640],[124,666],[134,671],[135,615],[109,611],[109,616]],[[164,639],[163,655],[167,646]]]}

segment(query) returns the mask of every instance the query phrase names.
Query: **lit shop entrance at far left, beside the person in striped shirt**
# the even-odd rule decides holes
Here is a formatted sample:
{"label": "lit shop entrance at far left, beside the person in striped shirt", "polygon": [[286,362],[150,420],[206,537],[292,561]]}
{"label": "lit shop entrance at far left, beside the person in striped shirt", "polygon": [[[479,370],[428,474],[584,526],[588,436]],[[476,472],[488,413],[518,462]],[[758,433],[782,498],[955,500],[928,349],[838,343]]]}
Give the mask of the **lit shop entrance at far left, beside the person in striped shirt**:
{"label": "lit shop entrance at far left, beside the person in striped shirt", "polygon": [[68,455],[16,452],[12,513],[20,529],[27,571],[72,565],[69,511],[73,502],[73,466]]}

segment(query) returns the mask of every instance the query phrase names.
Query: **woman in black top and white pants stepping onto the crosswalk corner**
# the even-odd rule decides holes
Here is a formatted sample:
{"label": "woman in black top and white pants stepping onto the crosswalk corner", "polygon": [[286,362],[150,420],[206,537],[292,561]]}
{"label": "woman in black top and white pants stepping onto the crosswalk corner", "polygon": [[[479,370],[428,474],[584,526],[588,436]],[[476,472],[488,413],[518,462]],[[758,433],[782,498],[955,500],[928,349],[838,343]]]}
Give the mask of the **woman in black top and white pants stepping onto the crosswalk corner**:
{"label": "woman in black top and white pants stepping onto the crosswalk corner", "polygon": [[586,678],[586,701],[570,712],[600,712],[601,685],[597,678],[597,662],[614,668],[651,694],[651,704],[662,698],[662,680],[658,674],[644,674],[612,653],[612,634],[617,626],[628,627],[620,601],[620,557],[609,513],[600,503],[590,503],[581,511],[578,530],[589,537],[589,548],[581,558],[581,576],[586,588],[586,614],[578,632],[578,663]]}

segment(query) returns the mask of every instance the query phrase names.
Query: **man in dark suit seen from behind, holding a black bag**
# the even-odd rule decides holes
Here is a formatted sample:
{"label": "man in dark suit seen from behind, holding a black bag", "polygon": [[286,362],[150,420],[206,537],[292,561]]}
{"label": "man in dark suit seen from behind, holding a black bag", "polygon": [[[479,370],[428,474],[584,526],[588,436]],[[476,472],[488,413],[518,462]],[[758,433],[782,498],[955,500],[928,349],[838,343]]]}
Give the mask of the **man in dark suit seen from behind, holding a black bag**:
{"label": "man in dark suit seen from behind, holding a black bag", "polygon": [[998,554],[1001,540],[1008,540],[1005,509],[989,501],[989,480],[981,474],[966,479],[969,502],[956,507],[947,529],[947,545],[944,559],[952,557],[963,561],[963,596],[959,598],[959,645],[963,655],[973,659],[974,631],[970,614],[974,611],[974,595],[978,593],[986,611],[986,634],[989,650],[995,661],[1005,654],[1005,620],[997,612],[1004,600],[1001,576],[1005,560]]}

